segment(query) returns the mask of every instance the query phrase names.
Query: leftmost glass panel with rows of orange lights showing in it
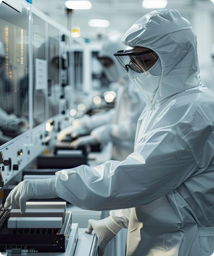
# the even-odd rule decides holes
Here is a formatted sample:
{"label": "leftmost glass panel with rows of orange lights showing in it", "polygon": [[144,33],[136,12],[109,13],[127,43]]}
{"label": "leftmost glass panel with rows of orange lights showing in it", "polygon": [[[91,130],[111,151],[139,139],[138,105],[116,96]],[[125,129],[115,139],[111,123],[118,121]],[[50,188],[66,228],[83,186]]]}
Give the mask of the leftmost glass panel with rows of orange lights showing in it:
{"label": "leftmost glass panel with rows of orange lights showing in it", "polygon": [[28,129],[29,15],[0,8],[0,145]]}

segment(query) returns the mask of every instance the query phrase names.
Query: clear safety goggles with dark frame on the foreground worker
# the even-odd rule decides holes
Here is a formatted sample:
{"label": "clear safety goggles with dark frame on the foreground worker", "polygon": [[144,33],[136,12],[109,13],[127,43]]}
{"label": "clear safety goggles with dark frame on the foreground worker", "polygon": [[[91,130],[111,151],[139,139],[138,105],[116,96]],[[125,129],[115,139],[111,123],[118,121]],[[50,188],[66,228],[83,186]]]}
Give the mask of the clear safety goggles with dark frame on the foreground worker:
{"label": "clear safety goggles with dark frame on the foreground worker", "polygon": [[118,51],[114,56],[131,79],[147,72],[159,59],[154,51],[143,47]]}

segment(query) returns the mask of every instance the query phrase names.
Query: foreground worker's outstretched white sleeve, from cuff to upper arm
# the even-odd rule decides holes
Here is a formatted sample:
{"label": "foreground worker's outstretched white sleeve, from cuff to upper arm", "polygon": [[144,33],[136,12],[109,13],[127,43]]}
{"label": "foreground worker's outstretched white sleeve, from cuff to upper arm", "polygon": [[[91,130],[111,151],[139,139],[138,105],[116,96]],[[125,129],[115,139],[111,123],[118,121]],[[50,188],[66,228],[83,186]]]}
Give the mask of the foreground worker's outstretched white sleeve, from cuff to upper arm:
{"label": "foreground worker's outstretched white sleeve, from cuff to upper arm", "polygon": [[171,129],[147,134],[125,161],[57,172],[59,197],[89,210],[126,209],[170,193],[198,169],[187,143]]}

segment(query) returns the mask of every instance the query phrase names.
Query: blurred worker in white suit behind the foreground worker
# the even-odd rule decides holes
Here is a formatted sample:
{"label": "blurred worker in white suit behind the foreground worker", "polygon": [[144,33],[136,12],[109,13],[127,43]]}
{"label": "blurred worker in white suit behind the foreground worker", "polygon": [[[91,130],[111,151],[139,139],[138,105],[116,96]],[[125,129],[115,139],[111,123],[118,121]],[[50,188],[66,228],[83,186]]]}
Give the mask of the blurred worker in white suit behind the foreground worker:
{"label": "blurred worker in white suit behind the foreground worker", "polygon": [[112,159],[123,161],[134,151],[134,139],[139,119],[146,104],[144,95],[128,79],[121,65],[114,57],[118,49],[125,49],[121,43],[121,37],[115,40],[107,40],[99,52],[98,59],[103,66],[104,73],[111,83],[117,83],[117,98],[114,109],[104,114],[96,114],[92,117],[85,115],[74,120],[74,124],[62,130],[58,140],[62,140],[66,134],[72,137],[82,136],[72,142],[73,147],[84,144],[97,144],[113,142]]}

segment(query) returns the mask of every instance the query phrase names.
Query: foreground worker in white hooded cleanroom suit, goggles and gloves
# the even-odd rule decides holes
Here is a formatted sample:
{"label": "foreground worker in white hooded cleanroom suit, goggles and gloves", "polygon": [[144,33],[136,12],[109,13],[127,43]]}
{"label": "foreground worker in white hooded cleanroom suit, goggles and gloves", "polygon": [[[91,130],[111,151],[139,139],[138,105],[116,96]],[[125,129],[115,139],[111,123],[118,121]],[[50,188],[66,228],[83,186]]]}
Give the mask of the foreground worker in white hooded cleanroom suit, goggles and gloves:
{"label": "foreground worker in white hooded cleanroom suit, goggles and gloves", "polygon": [[84,209],[113,209],[105,220],[90,221],[99,255],[121,227],[128,227],[127,256],[212,255],[214,93],[200,82],[196,35],[178,11],[158,10],[122,42],[132,49],[115,56],[147,101],[134,153],[59,171],[55,179],[25,180],[5,207],[24,212],[29,198],[58,195]]}

